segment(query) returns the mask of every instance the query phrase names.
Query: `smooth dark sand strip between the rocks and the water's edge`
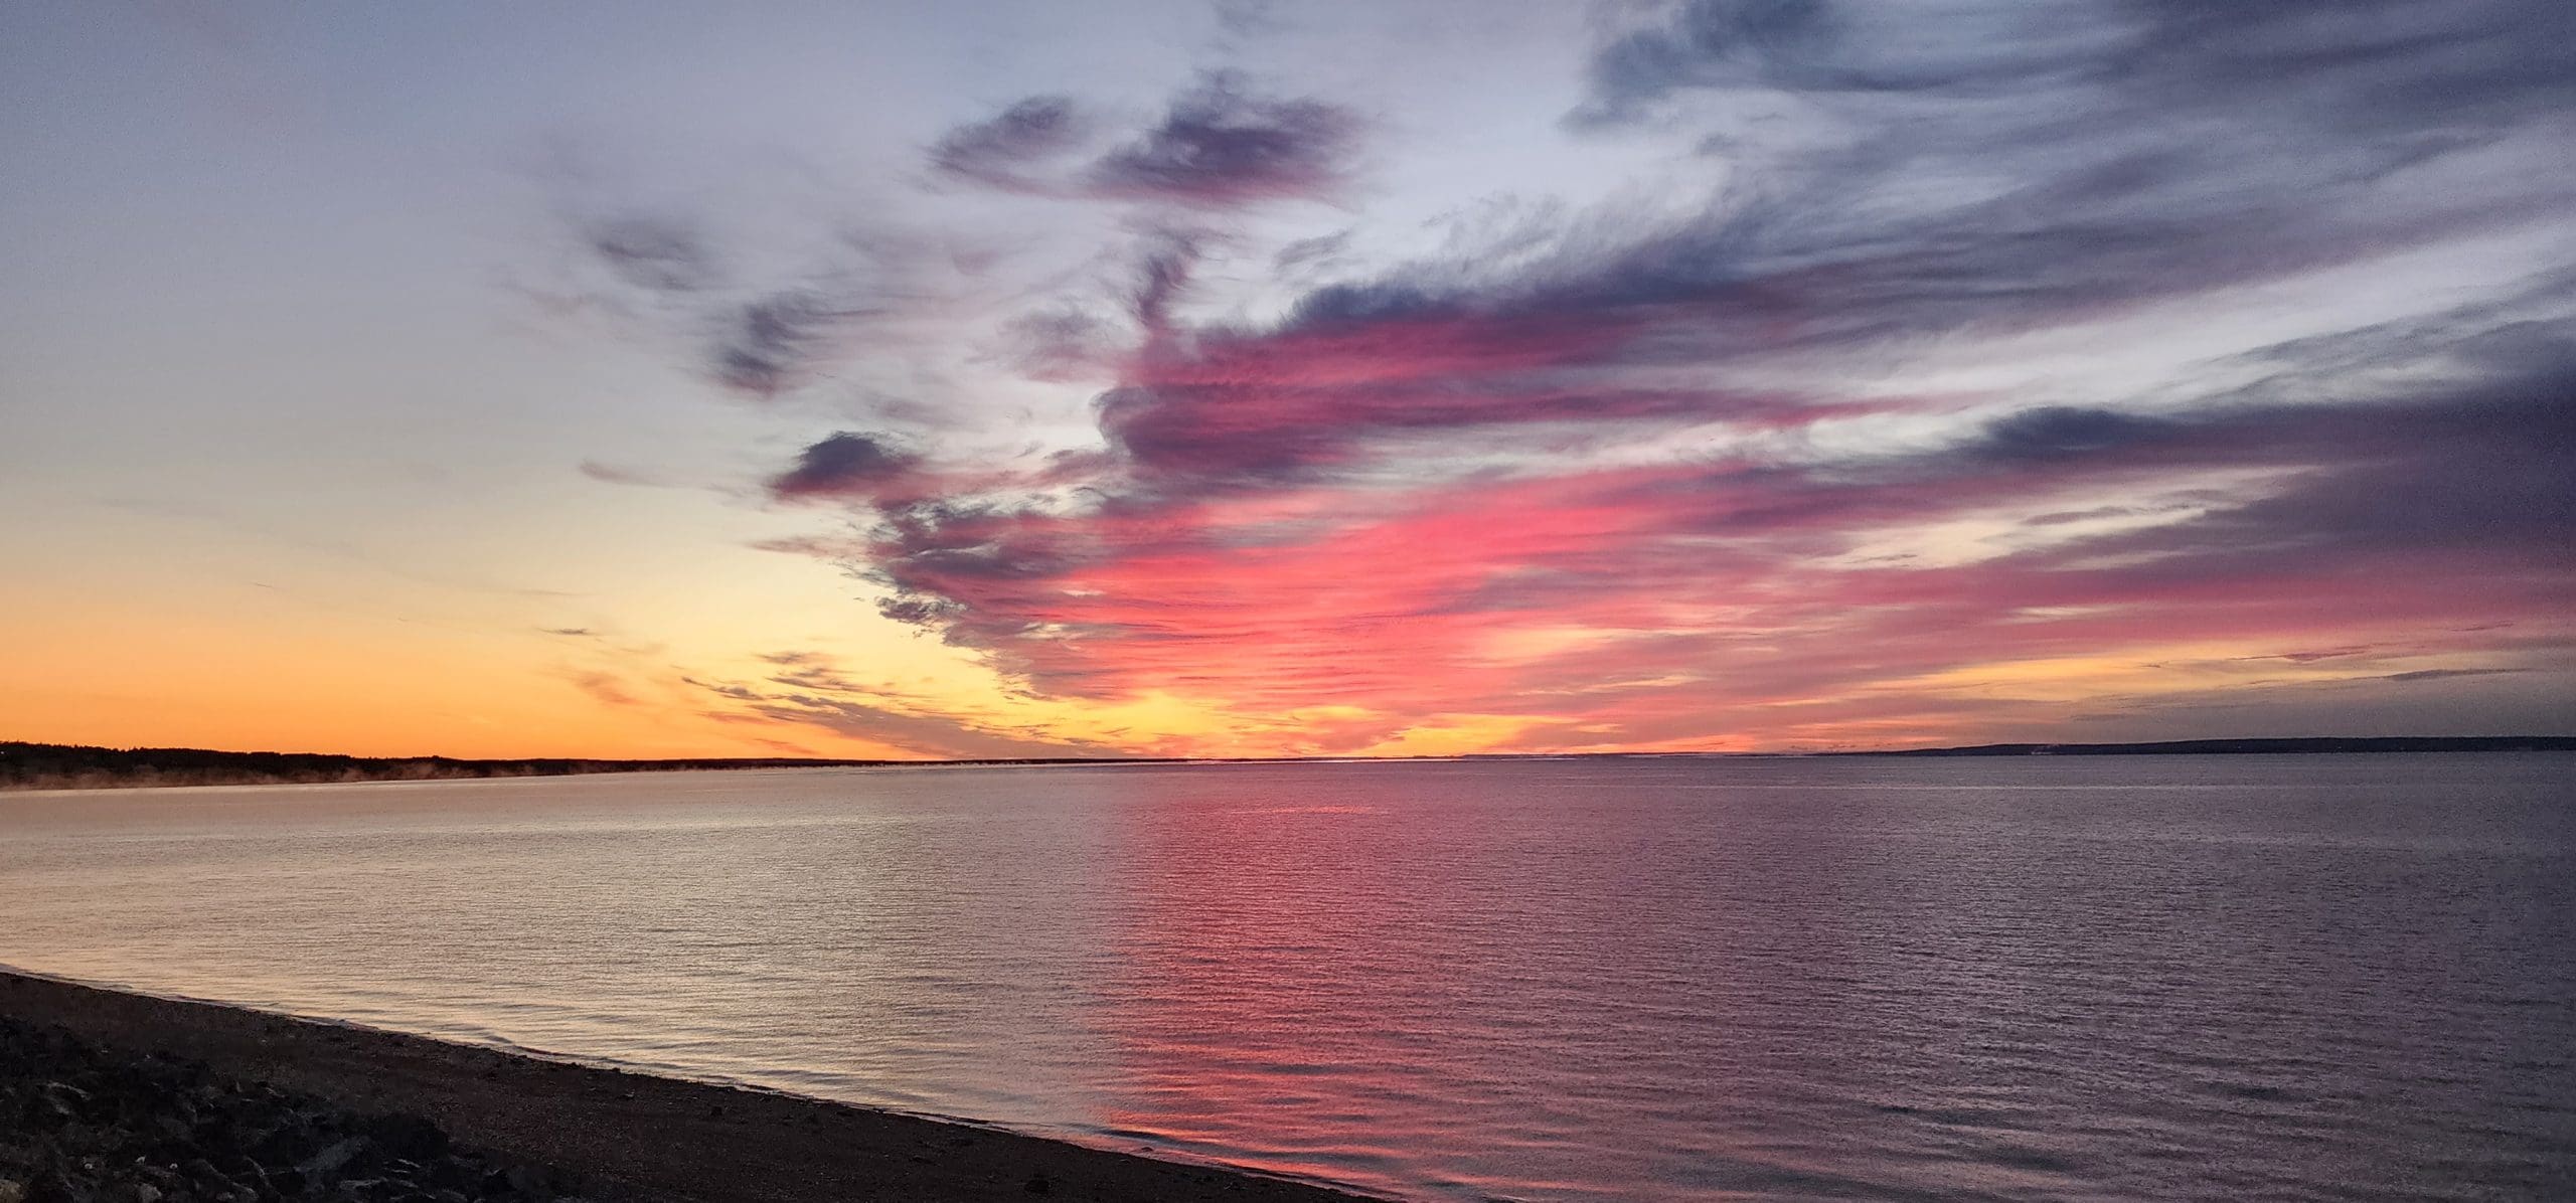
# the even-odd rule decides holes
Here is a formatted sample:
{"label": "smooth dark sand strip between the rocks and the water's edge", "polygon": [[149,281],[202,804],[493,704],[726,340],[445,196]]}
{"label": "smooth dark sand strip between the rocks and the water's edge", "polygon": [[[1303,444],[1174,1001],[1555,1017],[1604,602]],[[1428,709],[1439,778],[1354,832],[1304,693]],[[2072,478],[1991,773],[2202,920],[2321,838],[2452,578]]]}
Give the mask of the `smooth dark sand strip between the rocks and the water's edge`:
{"label": "smooth dark sand strip between the rocks and the water's edge", "polygon": [[[840,1103],[592,1069],[420,1036],[265,1015],[211,1002],[175,1002],[0,971],[0,1018],[59,1028],[88,1043],[90,1061],[129,1061],[170,1074],[185,1066],[232,1095],[319,1100],[337,1108],[327,1131],[384,1131],[407,1118],[497,1167],[531,1167],[520,1182],[556,1195],[670,1200],[1347,1200],[1337,1190],[1247,1172],[1131,1157]],[[26,1043],[26,1041],[21,1041]],[[70,1056],[70,1041],[36,1054]],[[175,1059],[175,1061],[173,1061]],[[28,1097],[46,1095],[49,1066],[28,1069]],[[64,1066],[70,1074],[77,1066]],[[98,1074],[93,1064],[88,1074]],[[149,1077],[162,1082],[165,1077]],[[85,1092],[95,1092],[82,1087]],[[157,1090],[157,1087],[155,1087]],[[173,1092],[178,1095],[178,1092]],[[147,1108],[155,1100],[129,1100]],[[108,1103],[98,1103],[108,1108]],[[392,1121],[389,1121],[392,1118]],[[157,1123],[124,1115],[98,1123]],[[337,1126],[337,1128],[335,1128]],[[175,1136],[170,1141],[222,1141]],[[204,1128],[204,1126],[198,1126]],[[167,1146],[162,1151],[170,1159]],[[242,1149],[185,1149],[206,1162]],[[507,1177],[507,1175],[502,1175]],[[495,1180],[495,1188],[505,1188]],[[471,1190],[466,1195],[482,1198]],[[523,1190],[526,1195],[526,1190]]]}

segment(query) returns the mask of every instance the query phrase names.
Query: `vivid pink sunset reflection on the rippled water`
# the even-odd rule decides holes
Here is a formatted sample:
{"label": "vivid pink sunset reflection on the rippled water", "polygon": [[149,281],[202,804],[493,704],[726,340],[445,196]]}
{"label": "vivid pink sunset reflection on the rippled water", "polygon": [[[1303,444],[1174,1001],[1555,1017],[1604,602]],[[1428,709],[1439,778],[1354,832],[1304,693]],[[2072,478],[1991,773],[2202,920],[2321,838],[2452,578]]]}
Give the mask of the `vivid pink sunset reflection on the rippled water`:
{"label": "vivid pink sunset reflection on the rippled water", "polygon": [[[1105,1123],[1406,1195],[1597,1190],[1613,1154],[1566,1133],[1636,1105],[1577,1085],[1631,1056],[1638,1023],[1592,989],[1636,976],[1618,866],[1548,855],[1479,806],[1244,786],[1118,811]],[[1406,1149],[1461,1157],[1425,1177]]]}

